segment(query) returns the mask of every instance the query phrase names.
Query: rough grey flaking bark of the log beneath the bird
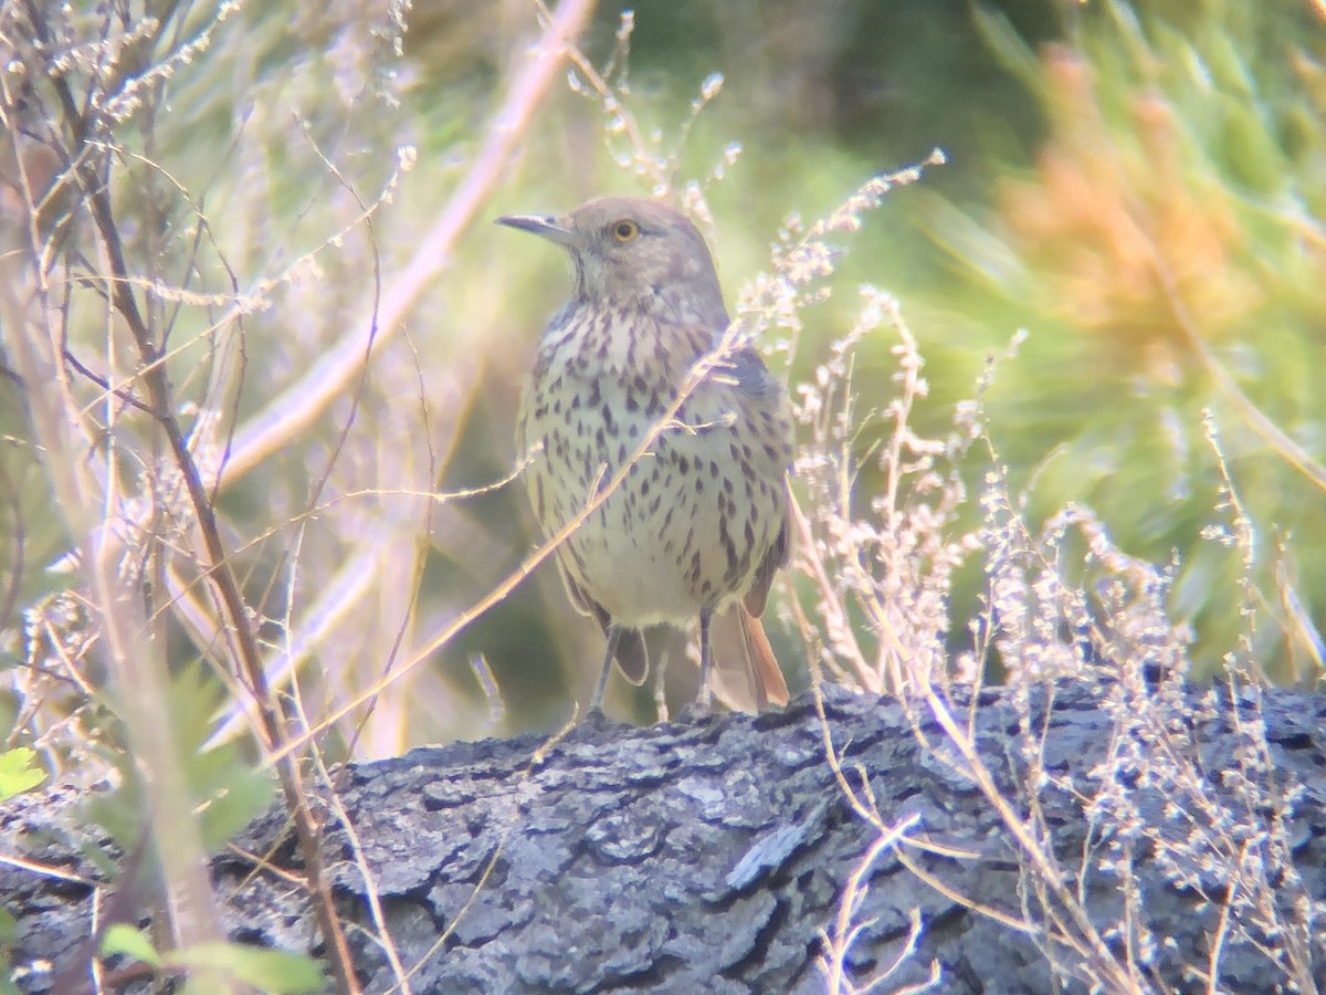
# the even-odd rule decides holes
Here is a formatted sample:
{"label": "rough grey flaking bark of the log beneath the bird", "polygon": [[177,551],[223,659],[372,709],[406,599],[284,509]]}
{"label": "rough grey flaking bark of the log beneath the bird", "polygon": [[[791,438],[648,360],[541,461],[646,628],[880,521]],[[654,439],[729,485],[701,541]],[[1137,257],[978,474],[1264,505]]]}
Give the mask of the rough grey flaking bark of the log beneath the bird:
{"label": "rough grey flaking bark of the log beneath the bird", "polygon": [[[1101,793],[1102,771],[1118,775],[1119,756],[1127,752],[1120,751],[1123,739],[1136,739],[1120,731],[1116,710],[1103,707],[1107,694],[1102,687],[1059,686],[1020,702],[1009,691],[984,691],[975,708],[976,738],[1001,793],[1018,813],[1033,812],[1022,744],[1044,734],[1050,783],[1037,804],[1046,842],[1115,954],[1120,941],[1109,930],[1120,919],[1123,889],[1120,877],[1103,872],[1102,864],[1120,848],[1131,849],[1142,909],[1136,925],[1158,941],[1140,951],[1148,962],[1143,988],[1205,990],[1184,966],[1209,966],[1212,937],[1223,935],[1215,958],[1219,987],[1276,990],[1286,978],[1286,941],[1268,933],[1256,909],[1231,901],[1228,874],[1201,866],[1200,846],[1192,848],[1191,866],[1183,866],[1181,858],[1175,864],[1172,846],[1159,845],[1195,832],[1191,817],[1167,817],[1163,785],[1152,787],[1144,772],[1136,777],[1130,797],[1139,825],[1119,827],[1089,811],[1086,800]],[[1281,838],[1301,880],[1282,874],[1274,903],[1285,922],[1315,914],[1315,926],[1309,922],[1302,935],[1315,958],[1309,970],[1321,976],[1326,698],[1266,693],[1262,727],[1252,700],[1235,706],[1223,693],[1208,694],[1215,695],[1208,702],[1219,700],[1203,715],[1200,693],[1187,693],[1189,718],[1175,736],[1191,747],[1209,800],[1223,805],[1219,811],[1272,824],[1273,811],[1246,812],[1246,777],[1228,776],[1249,769],[1248,751],[1256,752],[1261,728],[1270,767],[1266,783],[1257,785],[1258,797],[1301,789],[1292,805],[1281,805],[1288,809]],[[944,738],[924,706],[918,726],[894,702],[842,691],[826,695],[826,710],[842,768],[850,780],[858,769],[869,775],[883,820],[894,824],[915,815],[914,837],[971,854],[904,849],[947,894],[912,874],[891,850],[874,862],[869,892],[851,917],[863,923],[849,958],[851,976],[861,980],[892,962],[916,909],[923,925],[918,949],[883,991],[923,979],[932,961],[945,992],[1086,991],[1083,979],[1098,976],[1090,957],[1044,931],[1018,931],[973,911],[961,899],[1014,921],[1046,922],[1024,856],[991,803],[945,760]],[[758,718],[724,715],[650,728],[585,723],[542,746],[537,736],[457,743],[349,771],[342,801],[400,961],[407,968],[418,964],[410,979],[414,991],[823,988],[815,966],[821,930],[831,927],[843,885],[878,833],[847,805],[809,699]],[[1124,780],[1128,776],[1124,771]],[[1192,808],[1191,800],[1168,800]],[[121,857],[107,850],[95,827],[72,824],[76,803],[76,792],[60,789],[11,800],[0,809],[0,846],[24,860],[107,880],[90,852],[80,853],[73,841],[106,853],[111,865]],[[272,812],[237,844],[252,853],[271,852],[276,866],[298,873],[284,827],[282,815]],[[1272,861],[1274,854],[1262,850],[1273,849],[1274,838],[1248,838],[1246,845]],[[326,845],[341,913],[365,926],[349,930],[359,979],[367,991],[391,990],[392,974],[370,935],[363,880],[345,833],[329,825]],[[216,857],[213,872],[233,938],[318,951],[308,898],[289,880],[257,872],[231,852]],[[23,974],[20,988],[49,990],[52,978],[70,966],[81,971],[80,983],[89,978],[78,958],[86,957],[93,889],[4,865],[0,897],[20,921],[12,963],[53,964],[52,971]],[[105,894],[101,898],[105,902]],[[141,922],[150,915],[146,907],[139,906]]]}

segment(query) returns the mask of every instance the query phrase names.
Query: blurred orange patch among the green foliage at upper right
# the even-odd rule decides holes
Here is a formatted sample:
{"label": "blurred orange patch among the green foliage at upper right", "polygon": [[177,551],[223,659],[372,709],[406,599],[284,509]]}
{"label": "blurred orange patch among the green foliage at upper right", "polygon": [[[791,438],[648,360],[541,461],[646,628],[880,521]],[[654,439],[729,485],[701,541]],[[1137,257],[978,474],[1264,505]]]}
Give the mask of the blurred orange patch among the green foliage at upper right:
{"label": "blurred orange patch among the green foliage at upper right", "polygon": [[1216,338],[1258,302],[1236,259],[1240,228],[1220,187],[1185,171],[1164,100],[1135,97],[1132,130],[1111,129],[1089,68],[1063,49],[1045,62],[1053,137],[1036,180],[1000,191],[1013,243],[1036,271],[1037,302],[1107,336],[1113,358],[1174,381],[1187,352],[1177,305]]}

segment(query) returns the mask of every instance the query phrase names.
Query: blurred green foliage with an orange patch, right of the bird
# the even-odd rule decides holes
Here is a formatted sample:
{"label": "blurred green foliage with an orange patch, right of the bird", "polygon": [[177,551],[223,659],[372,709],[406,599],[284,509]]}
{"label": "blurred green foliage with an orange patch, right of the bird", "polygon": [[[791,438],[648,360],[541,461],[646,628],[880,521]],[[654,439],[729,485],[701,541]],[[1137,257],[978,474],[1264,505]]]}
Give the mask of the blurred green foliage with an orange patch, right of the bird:
{"label": "blurred green foliage with an orange patch, right of the bird", "polygon": [[[963,334],[993,348],[1030,333],[989,414],[1033,516],[1082,501],[1131,552],[1180,551],[1174,608],[1207,671],[1241,631],[1246,573],[1266,609],[1254,655],[1278,679],[1311,679],[1319,642],[1302,622],[1326,608],[1326,560],[1273,541],[1326,544],[1311,479],[1326,455],[1326,24],[1309,7],[1102,0],[1042,48],[977,8],[1048,137],[1030,170],[992,161],[989,206],[931,214],[960,263],[945,306],[969,317]],[[1233,524],[1207,409],[1261,536],[1250,573],[1200,539]]]}

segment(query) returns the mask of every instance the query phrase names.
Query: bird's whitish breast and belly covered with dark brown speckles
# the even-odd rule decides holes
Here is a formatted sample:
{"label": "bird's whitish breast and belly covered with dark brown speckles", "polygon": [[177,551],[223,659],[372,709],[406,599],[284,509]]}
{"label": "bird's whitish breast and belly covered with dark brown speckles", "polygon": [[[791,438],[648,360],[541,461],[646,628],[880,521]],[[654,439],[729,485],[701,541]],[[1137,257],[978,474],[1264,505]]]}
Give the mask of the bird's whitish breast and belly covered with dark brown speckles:
{"label": "bird's whitish breast and belly covered with dark brown speckles", "polygon": [[[703,325],[638,306],[573,306],[553,320],[517,419],[545,536],[631,460],[711,342]],[[785,395],[769,383],[707,377],[561,547],[564,568],[613,620],[680,625],[751,589],[786,513],[792,459]]]}

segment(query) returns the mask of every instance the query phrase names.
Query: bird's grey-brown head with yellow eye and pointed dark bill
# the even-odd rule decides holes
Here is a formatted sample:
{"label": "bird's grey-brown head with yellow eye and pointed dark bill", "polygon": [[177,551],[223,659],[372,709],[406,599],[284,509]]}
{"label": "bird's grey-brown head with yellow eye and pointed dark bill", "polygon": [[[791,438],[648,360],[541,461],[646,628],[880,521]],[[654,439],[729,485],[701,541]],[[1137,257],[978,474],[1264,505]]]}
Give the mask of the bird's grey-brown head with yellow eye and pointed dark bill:
{"label": "bird's grey-brown head with yellow eye and pointed dark bill", "polygon": [[680,211],[654,200],[605,196],[564,218],[508,215],[497,223],[565,248],[582,301],[680,305],[696,318],[727,324],[709,249]]}

